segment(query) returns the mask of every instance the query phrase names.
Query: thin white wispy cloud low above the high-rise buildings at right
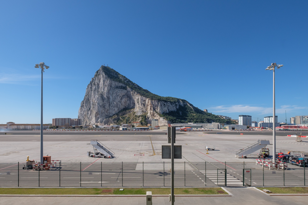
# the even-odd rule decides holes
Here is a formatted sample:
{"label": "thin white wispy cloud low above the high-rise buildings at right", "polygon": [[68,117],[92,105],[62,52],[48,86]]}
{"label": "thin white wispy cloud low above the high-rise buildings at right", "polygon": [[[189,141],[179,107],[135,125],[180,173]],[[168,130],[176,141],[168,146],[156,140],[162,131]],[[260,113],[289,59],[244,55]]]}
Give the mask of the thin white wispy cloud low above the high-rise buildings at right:
{"label": "thin white wispy cloud low above the high-rise buildings at right", "polygon": [[[225,112],[225,113],[234,113],[234,112],[240,112],[240,113],[259,113],[259,114],[267,114],[272,113],[273,108],[269,107],[262,107],[262,106],[249,106],[249,105],[221,105],[216,107],[211,107],[211,110],[213,112]],[[282,105],[280,107],[276,107],[276,113],[285,113],[285,112],[291,112],[295,110],[302,110],[302,109],[308,109],[308,107],[301,107],[298,105]]]}

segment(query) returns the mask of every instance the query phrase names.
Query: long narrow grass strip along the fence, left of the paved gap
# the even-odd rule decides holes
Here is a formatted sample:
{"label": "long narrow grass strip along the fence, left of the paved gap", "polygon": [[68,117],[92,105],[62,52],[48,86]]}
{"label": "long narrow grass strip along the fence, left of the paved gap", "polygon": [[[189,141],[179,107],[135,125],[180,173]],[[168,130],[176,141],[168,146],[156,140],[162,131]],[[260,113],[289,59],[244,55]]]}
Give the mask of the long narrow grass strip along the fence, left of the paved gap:
{"label": "long narrow grass strip along the fence, left of the paved gap", "polygon": [[[111,192],[102,192],[109,189]],[[146,195],[152,191],[152,195],[168,195],[170,188],[0,188],[0,194],[18,195]],[[218,193],[223,191],[224,193]],[[174,194],[228,194],[220,187],[215,188],[174,188]]]}

